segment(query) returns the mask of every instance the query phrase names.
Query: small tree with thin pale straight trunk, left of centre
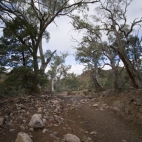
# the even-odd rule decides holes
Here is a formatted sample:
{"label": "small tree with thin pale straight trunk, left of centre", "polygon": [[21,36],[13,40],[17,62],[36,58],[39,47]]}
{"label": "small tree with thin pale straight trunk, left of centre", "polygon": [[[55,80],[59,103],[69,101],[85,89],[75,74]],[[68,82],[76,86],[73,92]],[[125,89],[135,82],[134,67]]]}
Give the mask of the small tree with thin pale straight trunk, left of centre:
{"label": "small tree with thin pale straight trunk, left of centre", "polygon": [[55,81],[60,82],[60,79],[66,76],[67,71],[71,68],[71,66],[66,66],[65,58],[67,57],[67,53],[59,55],[54,55],[52,61],[50,63],[50,70],[48,70],[47,74],[51,79],[51,90],[55,92]]}

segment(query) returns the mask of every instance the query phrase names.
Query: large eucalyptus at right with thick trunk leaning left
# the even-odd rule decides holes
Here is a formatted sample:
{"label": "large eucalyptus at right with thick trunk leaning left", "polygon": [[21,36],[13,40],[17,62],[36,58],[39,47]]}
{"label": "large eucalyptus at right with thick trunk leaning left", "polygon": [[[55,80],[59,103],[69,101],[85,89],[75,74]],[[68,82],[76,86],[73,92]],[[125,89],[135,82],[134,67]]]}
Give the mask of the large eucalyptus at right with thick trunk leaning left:
{"label": "large eucalyptus at right with thick trunk leaning left", "polygon": [[142,23],[142,17],[136,18],[130,27],[126,28],[129,22],[127,10],[131,2],[132,0],[100,1],[96,8],[96,15],[91,16],[93,22],[81,19],[79,16],[72,16],[72,24],[77,30],[87,29],[91,33],[102,31],[106,36],[113,35],[116,44],[110,44],[109,48],[112,48],[119,55],[133,87],[140,88],[142,80],[138,77],[137,69],[132,65],[126,51],[129,45],[129,36],[133,33],[134,28]]}

